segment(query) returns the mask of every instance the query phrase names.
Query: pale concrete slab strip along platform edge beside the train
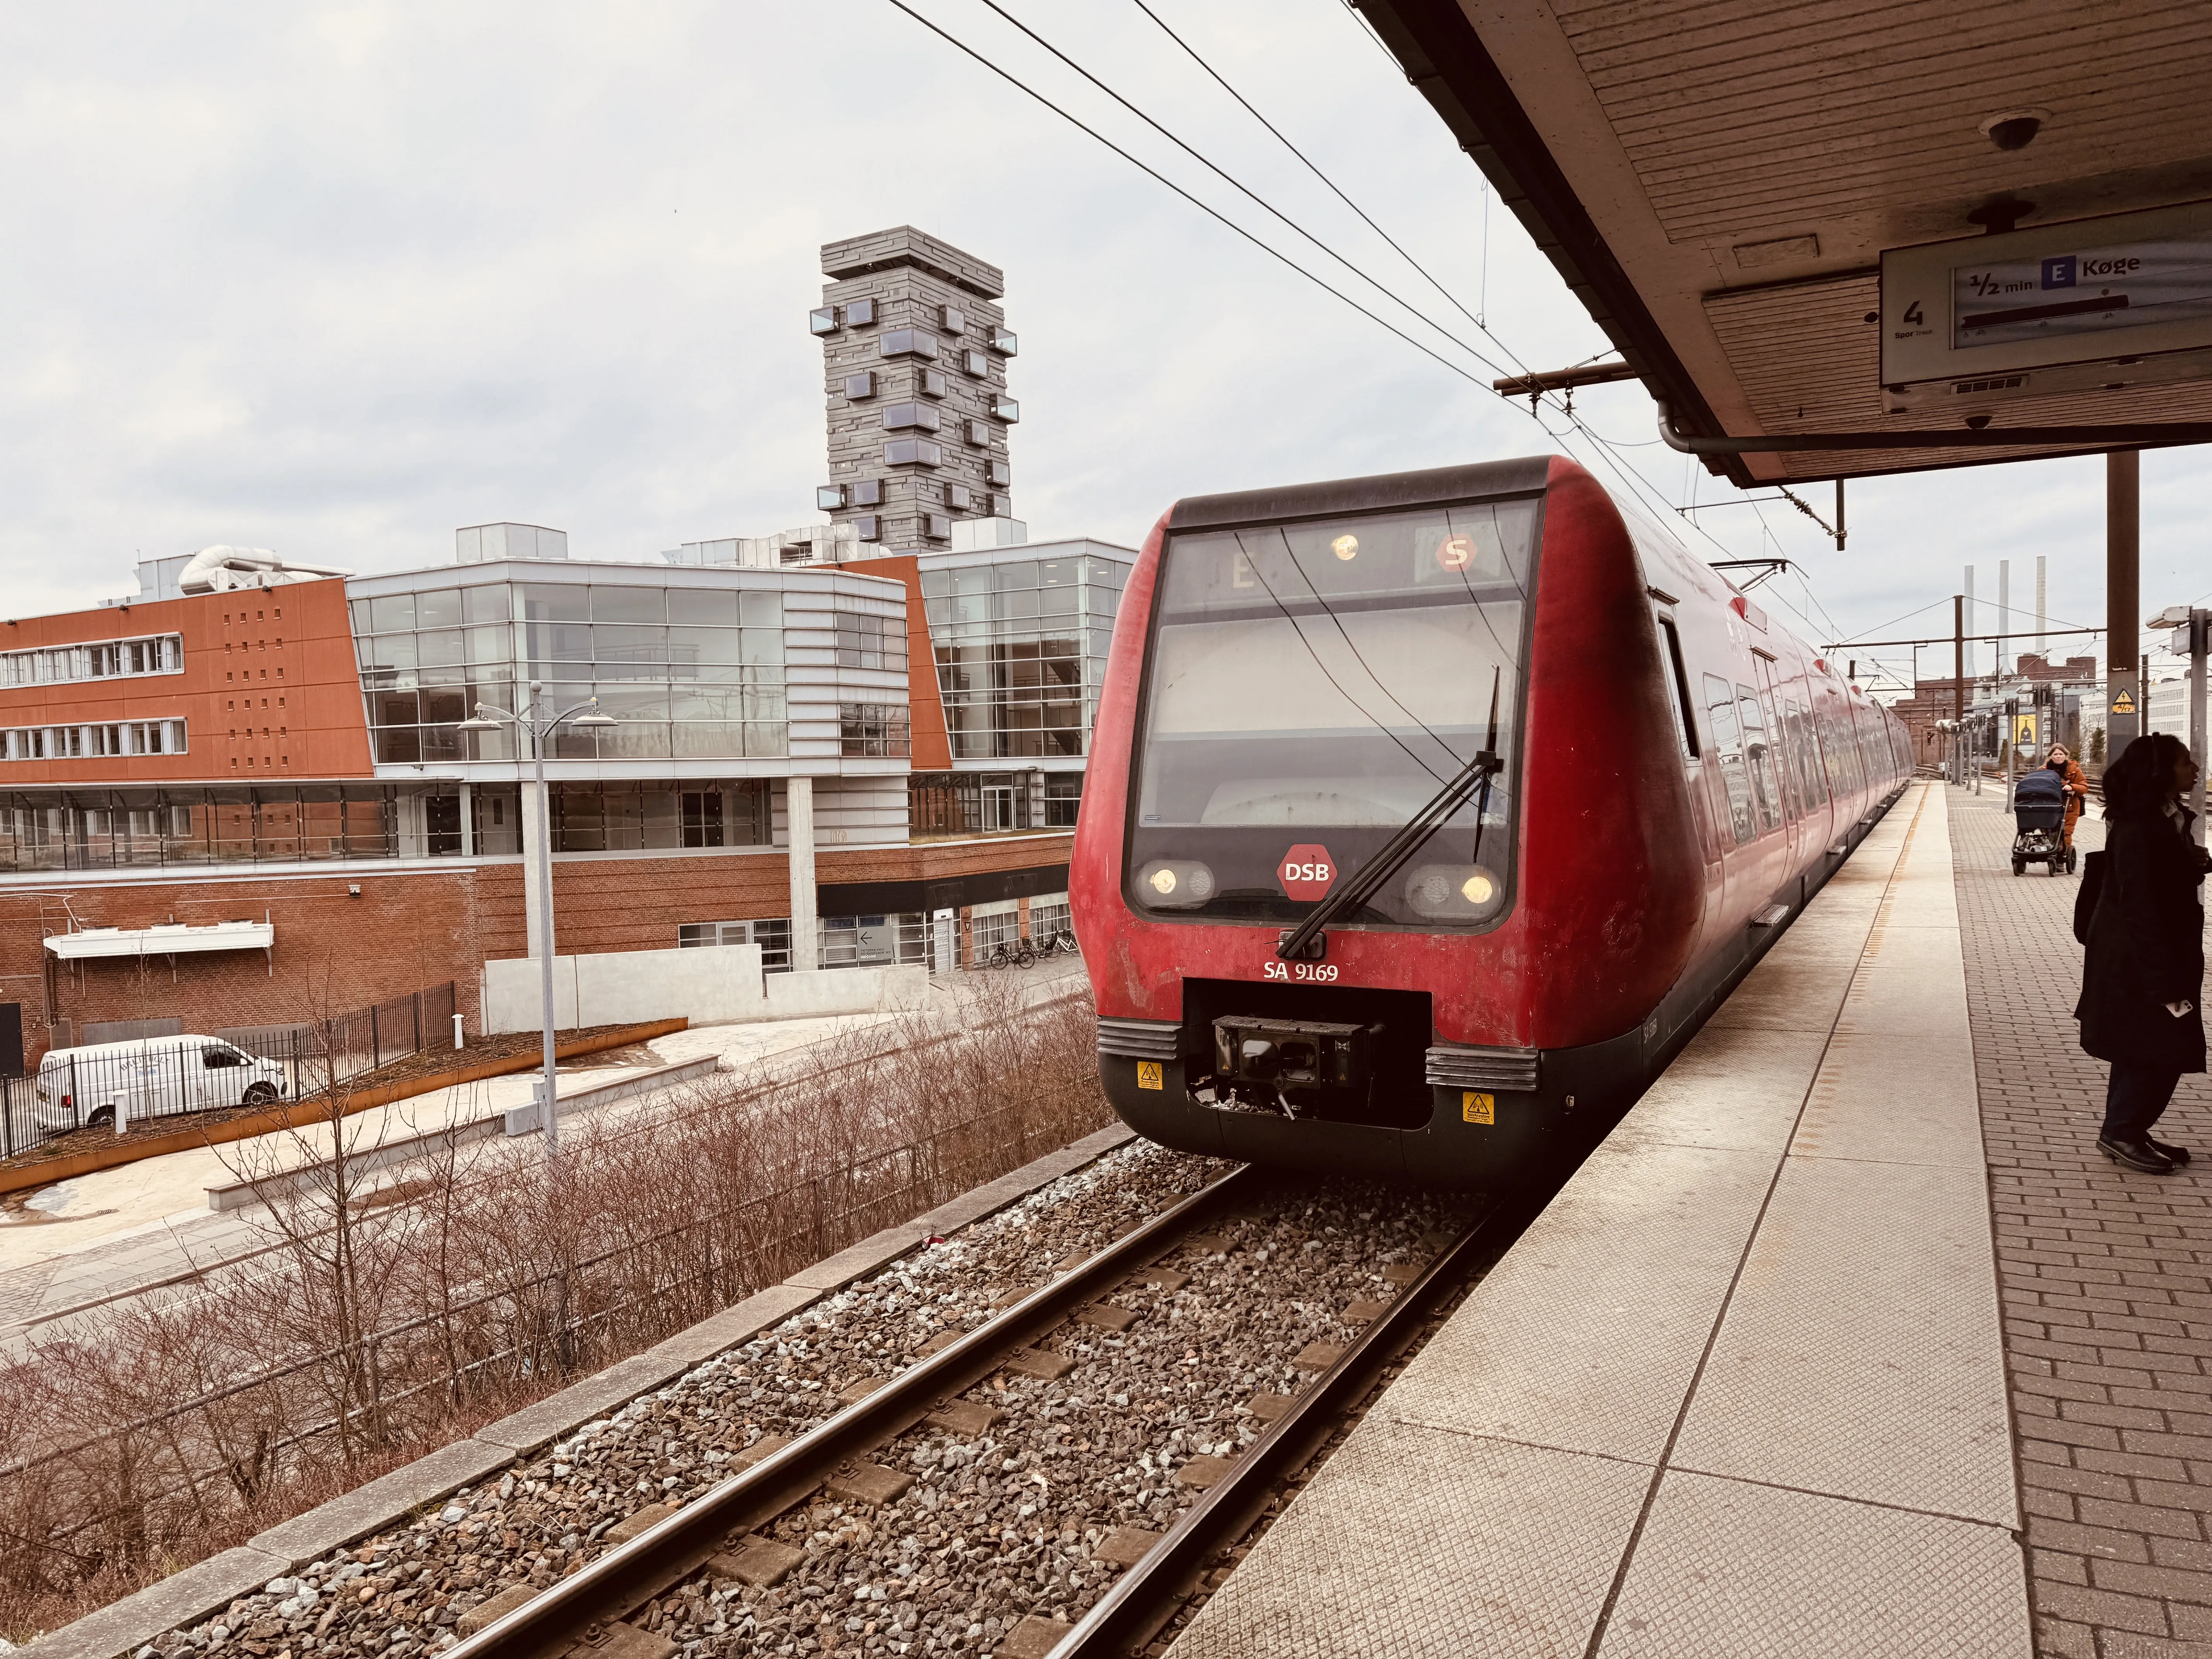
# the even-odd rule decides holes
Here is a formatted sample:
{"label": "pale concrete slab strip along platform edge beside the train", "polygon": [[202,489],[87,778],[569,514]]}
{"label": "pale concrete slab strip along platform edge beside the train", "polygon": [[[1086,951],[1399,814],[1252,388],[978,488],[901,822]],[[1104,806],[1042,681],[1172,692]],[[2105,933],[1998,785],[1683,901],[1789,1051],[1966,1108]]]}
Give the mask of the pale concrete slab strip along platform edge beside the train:
{"label": "pale concrete slab strip along platform edge beside the train", "polygon": [[2031,1650],[1953,799],[1907,790],[1175,1655]]}

